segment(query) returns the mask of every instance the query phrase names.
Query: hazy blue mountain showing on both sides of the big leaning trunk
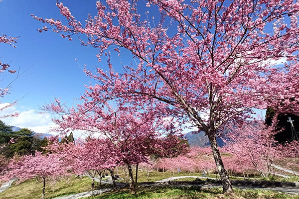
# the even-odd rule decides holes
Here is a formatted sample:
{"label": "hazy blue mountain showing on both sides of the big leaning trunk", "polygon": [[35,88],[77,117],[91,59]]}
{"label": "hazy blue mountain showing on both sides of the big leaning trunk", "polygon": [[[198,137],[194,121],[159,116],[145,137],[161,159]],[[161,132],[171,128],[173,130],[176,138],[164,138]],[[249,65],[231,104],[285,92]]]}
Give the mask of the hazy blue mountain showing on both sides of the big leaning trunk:
{"label": "hazy blue mountain showing on both sides of the big leaning trunk", "polygon": [[[210,141],[207,135],[203,131],[200,131],[199,133],[196,133],[197,131],[191,131],[187,133],[186,139],[189,142],[190,147],[208,147],[210,146]],[[196,134],[195,134],[196,133]],[[224,142],[221,138],[216,138],[217,139],[217,144],[219,147],[224,146]]]}

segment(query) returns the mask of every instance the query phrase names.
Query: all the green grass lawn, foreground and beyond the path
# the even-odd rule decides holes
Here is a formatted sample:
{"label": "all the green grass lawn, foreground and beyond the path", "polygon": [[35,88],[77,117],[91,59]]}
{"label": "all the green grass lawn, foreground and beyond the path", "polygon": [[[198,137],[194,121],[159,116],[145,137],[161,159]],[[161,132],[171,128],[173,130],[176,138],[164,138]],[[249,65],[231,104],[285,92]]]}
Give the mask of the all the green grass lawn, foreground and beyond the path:
{"label": "all the green grass lawn, foreground and beyond the path", "polygon": [[[125,179],[124,173],[118,173],[120,177]],[[142,182],[154,182],[170,177],[170,172],[150,172],[149,178],[147,177],[147,171],[139,171],[138,183]],[[171,173],[171,177],[174,176],[202,176],[201,173]],[[216,178],[215,174],[207,175],[209,178]],[[194,178],[184,178],[176,181],[193,181]],[[234,180],[231,177],[231,180]],[[238,179],[240,180],[240,179]],[[242,179],[241,179],[242,180]],[[294,179],[293,179],[294,180]],[[124,182],[124,181],[122,181]],[[96,184],[97,185],[97,184]],[[103,187],[103,186],[102,186]],[[105,186],[107,187],[107,186]],[[96,187],[95,189],[100,189]],[[46,182],[45,198],[51,199],[64,195],[71,195],[93,190],[91,188],[91,179],[84,177],[79,179],[75,176],[68,179],[60,180],[55,184]],[[36,183],[35,179],[27,180],[23,183],[16,185],[13,183],[10,188],[0,193],[0,199],[41,199],[42,195],[42,182]],[[157,188],[157,187],[138,187],[137,195],[131,196],[128,189],[118,190],[117,192],[110,192],[97,197],[91,197],[90,199],[299,199],[299,196],[292,197],[285,194],[279,194],[274,192],[267,192],[261,190],[236,190],[234,194],[223,195],[222,189],[203,189],[198,190],[195,188]],[[247,198],[246,198],[247,197]],[[256,198],[255,198],[256,197]]]}

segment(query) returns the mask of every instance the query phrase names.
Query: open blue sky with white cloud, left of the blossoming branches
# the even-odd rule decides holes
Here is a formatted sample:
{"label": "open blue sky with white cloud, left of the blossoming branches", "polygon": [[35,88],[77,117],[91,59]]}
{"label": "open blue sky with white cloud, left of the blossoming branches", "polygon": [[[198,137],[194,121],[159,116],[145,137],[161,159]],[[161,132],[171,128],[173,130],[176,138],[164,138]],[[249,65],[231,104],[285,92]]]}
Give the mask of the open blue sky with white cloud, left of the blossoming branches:
{"label": "open blue sky with white cloud, left of the blossoming branches", "polygon": [[[85,20],[88,13],[97,11],[96,0],[61,2],[79,20]],[[81,46],[78,39],[70,42],[52,31],[36,31],[45,24],[33,19],[31,13],[44,18],[63,19],[55,3],[56,0],[0,1],[0,33],[18,37],[16,48],[0,43],[0,60],[9,63],[10,69],[26,70],[13,82],[11,94],[1,99],[1,103],[20,99],[17,106],[6,110],[17,110],[21,113],[20,117],[3,119],[7,124],[29,127],[39,132],[43,131],[43,127],[46,130],[46,126],[51,125],[51,116],[37,114],[39,107],[54,97],[72,105],[74,98],[84,93],[84,84],[90,81],[82,72],[84,64],[89,68],[106,64],[98,62],[95,56],[97,49]],[[13,77],[1,76],[1,87],[5,87]]]}

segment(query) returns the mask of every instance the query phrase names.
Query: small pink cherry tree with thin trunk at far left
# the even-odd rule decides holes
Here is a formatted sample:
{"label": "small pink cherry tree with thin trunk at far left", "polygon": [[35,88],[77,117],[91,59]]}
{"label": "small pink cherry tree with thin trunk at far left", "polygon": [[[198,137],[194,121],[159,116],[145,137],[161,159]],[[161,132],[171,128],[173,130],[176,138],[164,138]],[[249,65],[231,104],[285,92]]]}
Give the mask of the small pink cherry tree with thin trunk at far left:
{"label": "small pink cherry tree with thin trunk at far left", "polygon": [[41,178],[43,180],[42,199],[45,197],[46,179],[67,175],[67,167],[59,161],[60,155],[52,153],[42,155],[36,151],[35,155],[14,157],[9,162],[2,179],[9,180],[18,178],[22,182],[31,178]]}

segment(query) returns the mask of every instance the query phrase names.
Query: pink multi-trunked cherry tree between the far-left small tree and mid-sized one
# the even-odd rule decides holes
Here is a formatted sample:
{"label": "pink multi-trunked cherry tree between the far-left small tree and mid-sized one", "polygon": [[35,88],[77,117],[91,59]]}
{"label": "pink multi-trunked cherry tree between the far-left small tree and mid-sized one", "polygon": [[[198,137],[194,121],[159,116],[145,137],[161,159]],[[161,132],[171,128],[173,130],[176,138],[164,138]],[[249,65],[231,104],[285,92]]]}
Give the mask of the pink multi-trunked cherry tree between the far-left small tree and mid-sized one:
{"label": "pink multi-trunked cherry tree between the far-left small tree and mid-sized one", "polygon": [[63,162],[69,165],[72,172],[77,175],[89,175],[92,178],[92,188],[96,176],[99,177],[101,183],[105,170],[111,172],[121,162],[119,154],[113,150],[108,139],[90,138],[84,142],[52,144],[49,147],[52,151],[61,154]]}

